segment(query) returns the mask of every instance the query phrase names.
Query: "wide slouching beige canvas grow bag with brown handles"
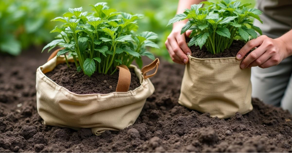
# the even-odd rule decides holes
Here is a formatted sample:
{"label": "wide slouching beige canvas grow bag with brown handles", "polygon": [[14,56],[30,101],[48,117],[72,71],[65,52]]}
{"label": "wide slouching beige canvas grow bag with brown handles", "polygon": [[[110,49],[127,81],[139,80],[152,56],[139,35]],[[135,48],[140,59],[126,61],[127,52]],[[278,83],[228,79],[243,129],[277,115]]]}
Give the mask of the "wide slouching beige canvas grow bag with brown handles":
{"label": "wide slouching beige canvas grow bag with brown handles", "polygon": [[[69,61],[73,62],[72,59]],[[132,124],[139,116],[146,98],[154,92],[149,77],[157,72],[159,59],[138,69],[134,68],[140,80],[140,87],[133,91],[129,89],[131,73],[127,67],[119,67],[117,92],[109,94],[75,94],[68,89],[57,85],[44,73],[52,71],[58,64],[64,63],[65,58],[53,57],[36,71],[36,98],[37,111],[44,124],[51,126],[69,127],[72,129],[91,128],[95,135],[105,130],[119,131]],[[146,75],[156,67],[154,74]],[[122,75],[128,72],[128,75]],[[129,78],[130,77],[130,78]],[[123,79],[124,78],[124,79]],[[126,92],[123,90],[126,89]]]}

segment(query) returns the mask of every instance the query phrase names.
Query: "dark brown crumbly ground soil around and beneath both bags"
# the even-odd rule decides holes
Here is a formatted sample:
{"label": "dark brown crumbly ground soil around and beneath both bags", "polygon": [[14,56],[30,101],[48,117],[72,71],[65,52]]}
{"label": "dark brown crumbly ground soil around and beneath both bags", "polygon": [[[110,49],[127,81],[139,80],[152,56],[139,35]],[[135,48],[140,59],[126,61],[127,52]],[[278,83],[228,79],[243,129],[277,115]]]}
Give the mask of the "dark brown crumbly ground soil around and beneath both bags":
{"label": "dark brown crumbly ground soil around and beneath both bags", "polygon": [[36,68],[48,57],[40,50],[0,56],[0,152],[292,152],[288,111],[258,99],[226,120],[189,110],[177,103],[184,66],[163,60],[133,126],[101,136],[45,126],[36,111]]}

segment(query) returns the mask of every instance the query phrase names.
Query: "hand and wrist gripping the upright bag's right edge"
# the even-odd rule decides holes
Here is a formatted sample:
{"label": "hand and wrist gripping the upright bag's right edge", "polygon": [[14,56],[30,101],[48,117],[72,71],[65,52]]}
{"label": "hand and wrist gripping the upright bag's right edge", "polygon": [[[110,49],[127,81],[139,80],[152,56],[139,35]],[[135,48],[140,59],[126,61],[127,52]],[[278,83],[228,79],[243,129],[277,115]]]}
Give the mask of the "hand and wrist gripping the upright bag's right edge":
{"label": "hand and wrist gripping the upright bag's right edge", "polygon": [[292,30],[276,39],[262,35],[250,40],[239,50],[236,58],[243,59],[246,53],[255,47],[257,48],[241,62],[240,68],[252,66],[268,68],[278,65],[283,59],[292,55]]}

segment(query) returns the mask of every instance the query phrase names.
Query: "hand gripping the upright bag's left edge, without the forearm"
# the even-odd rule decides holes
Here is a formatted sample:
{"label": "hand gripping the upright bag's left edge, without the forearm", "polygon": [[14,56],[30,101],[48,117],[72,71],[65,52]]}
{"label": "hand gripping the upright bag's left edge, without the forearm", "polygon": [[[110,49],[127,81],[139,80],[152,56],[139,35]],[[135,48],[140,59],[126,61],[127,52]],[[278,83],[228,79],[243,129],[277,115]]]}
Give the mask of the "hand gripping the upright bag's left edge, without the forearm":
{"label": "hand gripping the upright bag's left edge, without the forearm", "polygon": [[179,64],[187,64],[187,62],[189,62],[187,55],[192,54],[185,41],[185,36],[190,36],[191,31],[188,30],[183,34],[180,34],[184,25],[185,23],[180,22],[174,24],[171,33],[165,41],[166,49],[168,50],[172,61]]}

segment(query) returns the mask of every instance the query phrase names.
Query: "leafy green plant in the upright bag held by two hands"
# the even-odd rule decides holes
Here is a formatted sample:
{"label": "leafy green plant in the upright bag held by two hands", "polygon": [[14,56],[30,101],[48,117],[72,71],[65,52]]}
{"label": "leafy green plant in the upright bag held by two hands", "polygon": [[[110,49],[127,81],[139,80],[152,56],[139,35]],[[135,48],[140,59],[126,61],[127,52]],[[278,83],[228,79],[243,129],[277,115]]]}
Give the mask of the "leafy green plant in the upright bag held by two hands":
{"label": "leafy green plant in the upright bag held by two hands", "polygon": [[[201,8],[203,4],[208,6]],[[181,30],[181,34],[189,29],[193,30],[188,45],[199,45],[200,48],[205,45],[209,52],[216,54],[229,48],[236,37],[247,41],[257,37],[256,31],[262,34],[251,20],[255,18],[262,22],[258,16],[262,12],[256,8],[246,8],[248,5],[250,3],[241,4],[235,0],[221,0],[218,3],[203,1],[192,5],[184,13],[175,15],[168,25],[188,19]]]}

